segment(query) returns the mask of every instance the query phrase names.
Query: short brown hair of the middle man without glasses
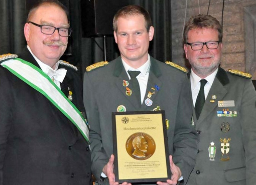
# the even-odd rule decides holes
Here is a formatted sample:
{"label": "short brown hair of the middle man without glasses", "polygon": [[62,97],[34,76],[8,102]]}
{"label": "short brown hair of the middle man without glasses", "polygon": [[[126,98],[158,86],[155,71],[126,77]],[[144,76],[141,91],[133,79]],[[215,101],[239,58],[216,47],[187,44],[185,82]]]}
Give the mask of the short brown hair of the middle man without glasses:
{"label": "short brown hair of the middle man without glasses", "polygon": [[138,5],[128,5],[128,6],[121,8],[120,10],[118,10],[113,18],[113,30],[115,32],[117,32],[118,18],[120,18],[120,17],[125,18],[125,17],[129,17],[129,16],[139,16],[139,15],[142,15],[144,17],[145,22],[146,22],[145,27],[147,29],[147,32],[149,32],[150,27],[152,26],[150,14],[143,7],[138,6]]}

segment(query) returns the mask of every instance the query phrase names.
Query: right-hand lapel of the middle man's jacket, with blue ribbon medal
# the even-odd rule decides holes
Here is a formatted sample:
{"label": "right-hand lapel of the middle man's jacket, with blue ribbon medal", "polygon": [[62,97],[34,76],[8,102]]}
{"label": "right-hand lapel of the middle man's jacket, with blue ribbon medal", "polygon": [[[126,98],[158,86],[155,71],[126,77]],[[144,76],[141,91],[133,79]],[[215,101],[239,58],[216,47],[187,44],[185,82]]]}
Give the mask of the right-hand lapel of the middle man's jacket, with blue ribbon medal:
{"label": "right-hand lapel of the middle man's jacket, with blue ribbon medal", "polygon": [[[160,77],[162,75],[162,73],[157,64],[157,61],[152,57],[150,57],[150,61],[151,61],[150,74],[149,74],[149,80],[148,80],[148,84],[147,84],[146,94],[145,94],[143,104],[141,107],[142,110],[145,110],[148,107],[145,104],[145,101],[148,98],[149,92],[154,93],[149,98],[149,99],[151,99],[152,102],[154,102],[154,99],[157,97],[157,95],[161,91],[161,87],[162,87],[162,82],[158,79],[158,77]],[[159,88],[159,90],[158,90],[158,88]]]}

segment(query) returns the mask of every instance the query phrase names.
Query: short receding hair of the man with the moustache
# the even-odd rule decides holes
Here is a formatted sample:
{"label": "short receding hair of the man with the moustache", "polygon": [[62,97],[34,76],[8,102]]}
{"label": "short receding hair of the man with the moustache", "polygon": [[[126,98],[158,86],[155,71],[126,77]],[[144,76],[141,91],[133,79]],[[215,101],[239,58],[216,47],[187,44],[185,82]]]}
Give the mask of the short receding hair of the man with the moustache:
{"label": "short receding hair of the man with the moustache", "polygon": [[30,9],[29,14],[28,14],[27,23],[28,23],[29,21],[31,21],[31,19],[32,19],[32,17],[34,16],[35,12],[36,12],[41,6],[44,6],[44,5],[54,5],[54,6],[59,7],[60,9],[62,9],[62,10],[66,13],[67,18],[69,18],[68,9],[67,9],[62,3],[60,3],[59,1],[57,1],[57,0],[41,0],[41,1],[37,2],[37,3]]}

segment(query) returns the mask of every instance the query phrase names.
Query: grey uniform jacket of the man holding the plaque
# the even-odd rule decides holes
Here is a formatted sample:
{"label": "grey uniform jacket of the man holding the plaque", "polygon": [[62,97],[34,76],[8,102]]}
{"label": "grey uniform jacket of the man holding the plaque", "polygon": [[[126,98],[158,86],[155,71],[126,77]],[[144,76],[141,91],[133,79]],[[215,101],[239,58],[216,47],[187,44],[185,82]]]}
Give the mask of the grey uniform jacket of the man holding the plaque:
{"label": "grey uniform jacket of the man holding the plaque", "polygon": [[[151,57],[151,68],[147,91],[159,86],[159,91],[152,95],[153,104],[145,102],[139,108],[136,97],[127,96],[123,80],[129,81],[121,58],[108,65],[84,74],[84,105],[90,125],[92,155],[92,173],[99,181],[103,166],[113,153],[111,112],[116,112],[119,105],[126,111],[153,110],[160,106],[165,110],[166,119],[170,121],[167,130],[169,154],[181,168],[185,180],[194,165],[197,134],[190,125],[192,108],[189,106],[189,89],[183,86],[185,73]],[[185,80],[185,81],[184,81]],[[147,98],[147,93],[145,99]],[[144,99],[144,100],[145,100]]]}

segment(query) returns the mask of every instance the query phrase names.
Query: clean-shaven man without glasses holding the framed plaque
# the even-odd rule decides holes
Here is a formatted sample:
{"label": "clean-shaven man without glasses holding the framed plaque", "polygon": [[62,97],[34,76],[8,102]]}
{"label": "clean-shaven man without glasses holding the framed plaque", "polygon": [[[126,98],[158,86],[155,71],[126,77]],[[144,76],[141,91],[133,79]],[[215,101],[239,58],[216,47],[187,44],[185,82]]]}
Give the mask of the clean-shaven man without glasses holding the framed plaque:
{"label": "clean-shaven man without glasses holding the framed plaque", "polygon": [[[194,166],[198,141],[191,126],[192,108],[187,96],[189,88],[184,86],[186,70],[171,62],[168,65],[157,61],[148,54],[154,27],[149,13],[142,7],[126,6],[120,9],[114,16],[113,30],[121,56],[109,63],[93,64],[86,68],[84,74],[84,104],[90,123],[92,173],[98,183],[109,180],[110,184],[118,184],[113,174],[113,171],[117,172],[117,166],[113,169],[114,156],[111,155],[114,147],[112,112],[164,110],[167,153],[171,155],[170,159],[168,157],[171,165],[168,168],[171,167],[172,177],[167,182],[157,183],[176,184],[180,177],[186,182]],[[122,121],[126,123],[129,120],[124,117]],[[136,136],[131,135],[129,143]],[[143,136],[148,145],[146,147],[145,144],[146,153],[152,149],[151,137],[152,140],[157,138],[158,133]],[[132,144],[130,149],[134,149]],[[141,156],[137,158],[144,159]],[[108,179],[104,178],[106,176]],[[129,179],[127,182],[130,182]],[[145,182],[148,180],[145,179]]]}

